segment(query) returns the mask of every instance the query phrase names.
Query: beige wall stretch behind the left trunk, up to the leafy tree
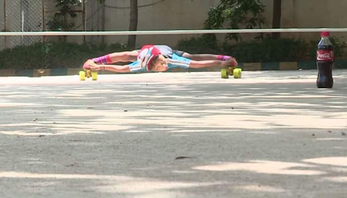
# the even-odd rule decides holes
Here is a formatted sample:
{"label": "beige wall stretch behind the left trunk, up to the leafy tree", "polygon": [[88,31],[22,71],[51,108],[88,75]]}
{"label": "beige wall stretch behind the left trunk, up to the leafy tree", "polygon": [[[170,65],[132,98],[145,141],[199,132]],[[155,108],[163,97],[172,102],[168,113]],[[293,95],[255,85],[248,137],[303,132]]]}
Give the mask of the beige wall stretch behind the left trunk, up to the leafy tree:
{"label": "beige wall stretch behind the left trunk, up to the leafy tree", "polygon": [[[216,6],[219,0],[139,0],[138,30],[189,30],[202,29],[207,19],[209,7]],[[154,4],[153,4],[154,3]],[[153,4],[145,7],[143,5]],[[106,0],[105,30],[128,30],[129,0]],[[118,7],[118,8],[115,8]],[[187,35],[137,36],[137,46],[146,43],[175,45],[179,39]],[[106,42],[127,41],[127,37],[106,37]]]}

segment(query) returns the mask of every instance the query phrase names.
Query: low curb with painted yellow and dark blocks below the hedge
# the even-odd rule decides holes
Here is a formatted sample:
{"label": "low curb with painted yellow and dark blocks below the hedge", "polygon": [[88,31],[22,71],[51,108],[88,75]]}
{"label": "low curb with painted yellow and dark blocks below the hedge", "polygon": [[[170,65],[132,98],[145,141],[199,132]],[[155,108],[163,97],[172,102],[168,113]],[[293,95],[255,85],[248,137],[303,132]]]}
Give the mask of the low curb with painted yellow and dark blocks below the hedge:
{"label": "low curb with painted yellow and dark blocks below the hedge", "polygon": [[[239,63],[239,68],[243,71],[261,71],[261,70],[298,70],[298,69],[317,69],[316,61],[299,61],[299,62],[254,62],[254,63]],[[347,69],[347,60],[337,60],[334,63],[335,69]],[[0,77],[8,76],[27,76],[27,77],[41,77],[41,76],[70,76],[78,75],[81,68],[52,68],[52,69],[0,69]],[[221,69],[203,68],[203,69],[183,69],[173,68],[168,72],[217,72]],[[100,71],[99,74],[115,74],[111,71]]]}

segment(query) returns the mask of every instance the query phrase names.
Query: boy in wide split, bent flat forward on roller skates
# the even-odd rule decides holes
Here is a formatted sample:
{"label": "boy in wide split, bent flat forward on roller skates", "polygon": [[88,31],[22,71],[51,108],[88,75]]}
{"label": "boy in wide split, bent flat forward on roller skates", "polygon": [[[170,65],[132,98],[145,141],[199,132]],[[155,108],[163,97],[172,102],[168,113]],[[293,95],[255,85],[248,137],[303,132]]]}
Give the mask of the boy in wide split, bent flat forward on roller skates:
{"label": "boy in wide split, bent flat forward on roller skates", "polygon": [[[132,62],[128,65],[112,65],[115,62]],[[226,55],[189,54],[164,45],[145,45],[140,50],[107,54],[87,60],[83,69],[109,70],[114,72],[155,71],[162,72],[173,67],[203,68],[237,66],[235,58]]]}

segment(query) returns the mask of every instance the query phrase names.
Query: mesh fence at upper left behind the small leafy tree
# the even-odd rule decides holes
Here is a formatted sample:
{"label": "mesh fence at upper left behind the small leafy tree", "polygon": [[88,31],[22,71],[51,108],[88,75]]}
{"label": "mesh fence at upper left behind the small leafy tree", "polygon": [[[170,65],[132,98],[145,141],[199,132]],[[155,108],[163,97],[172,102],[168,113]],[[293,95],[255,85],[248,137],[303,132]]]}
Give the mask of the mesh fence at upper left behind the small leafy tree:
{"label": "mesh fence at upper left behind the small leafy tree", "polygon": [[[0,30],[5,32],[50,31],[48,23],[58,8],[55,0],[0,0]],[[71,31],[103,31],[105,4],[97,0],[84,0],[74,6],[76,17],[69,18],[74,24]],[[0,37],[0,49],[27,46],[37,42],[57,41],[58,37],[6,36]],[[77,43],[102,43],[103,36],[65,37],[66,41]]]}

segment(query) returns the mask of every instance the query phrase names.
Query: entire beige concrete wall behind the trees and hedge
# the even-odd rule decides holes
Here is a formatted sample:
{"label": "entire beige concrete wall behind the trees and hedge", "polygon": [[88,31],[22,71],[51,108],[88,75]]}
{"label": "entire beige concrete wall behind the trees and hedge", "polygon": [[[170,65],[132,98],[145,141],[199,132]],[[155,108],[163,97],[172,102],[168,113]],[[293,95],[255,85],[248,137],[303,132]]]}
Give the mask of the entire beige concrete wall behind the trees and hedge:
{"label": "entire beige concrete wall behind the trees and hedge", "polygon": [[[0,0],[0,29],[3,29],[3,2],[4,0]],[[14,1],[6,0],[7,4],[11,2]],[[56,9],[54,0],[47,0],[47,2],[46,21],[54,15]],[[209,8],[218,5],[219,2],[220,0],[139,0],[138,30],[202,29],[203,23],[207,19]],[[273,0],[262,0],[262,2],[266,5],[264,15],[268,23],[268,27],[264,28],[271,28]],[[103,17],[105,17],[104,29],[106,31],[128,30],[129,0],[106,0],[106,7],[103,10],[98,10],[98,6],[99,4],[95,0],[87,0],[86,17],[89,18],[86,21],[87,30],[102,30]],[[282,28],[347,27],[346,7],[347,0],[282,0],[281,25]],[[16,10],[13,11],[17,12]],[[74,22],[76,25],[80,25],[83,21],[82,12],[78,12],[77,15],[78,17],[74,19]],[[7,20],[7,23],[11,24],[11,20],[19,19],[18,17],[12,19],[8,17]],[[8,25],[9,27],[10,25]],[[77,30],[82,30],[82,27],[80,26]],[[342,40],[346,39],[346,35],[347,33],[332,34],[332,36],[338,36]],[[197,35],[137,36],[136,45],[138,47],[148,43],[175,45],[178,40],[191,36]],[[219,35],[219,38],[223,38],[223,36]],[[245,39],[252,36],[250,34],[244,35]],[[319,33],[288,33],[282,34],[282,37],[317,40],[319,39]],[[47,40],[55,39],[57,38],[47,37]],[[0,38],[0,49],[4,47],[3,40],[3,38]],[[81,43],[83,42],[83,37],[68,37],[67,40]],[[126,43],[127,36],[86,38],[86,41],[92,42],[103,40],[107,43]]]}

